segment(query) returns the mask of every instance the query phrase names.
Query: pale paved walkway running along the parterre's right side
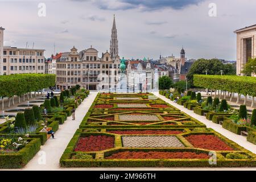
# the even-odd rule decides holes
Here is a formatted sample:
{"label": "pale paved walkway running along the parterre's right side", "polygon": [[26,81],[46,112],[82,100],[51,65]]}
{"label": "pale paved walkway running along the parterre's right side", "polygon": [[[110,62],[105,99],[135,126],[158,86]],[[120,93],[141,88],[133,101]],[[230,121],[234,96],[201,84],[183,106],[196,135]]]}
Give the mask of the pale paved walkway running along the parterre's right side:
{"label": "pale paved walkway running along the parterre's right side", "polygon": [[191,117],[204,123],[207,127],[212,128],[213,130],[217,131],[218,133],[224,135],[226,138],[233,140],[240,146],[242,146],[242,147],[246,148],[247,150],[256,154],[256,145],[253,143],[247,142],[246,137],[234,134],[231,131],[224,129],[221,125],[218,125],[216,123],[213,123],[212,121],[209,121],[203,115],[198,115],[198,114],[194,113],[192,110],[186,109],[185,107],[172,102],[170,99],[167,99],[166,97],[161,96],[158,93],[154,93],[154,94],[155,94],[155,96],[162,98],[162,100],[166,101],[167,103],[171,104],[172,106],[175,106],[177,109],[180,109],[184,113],[186,113],[186,114],[190,115]]}

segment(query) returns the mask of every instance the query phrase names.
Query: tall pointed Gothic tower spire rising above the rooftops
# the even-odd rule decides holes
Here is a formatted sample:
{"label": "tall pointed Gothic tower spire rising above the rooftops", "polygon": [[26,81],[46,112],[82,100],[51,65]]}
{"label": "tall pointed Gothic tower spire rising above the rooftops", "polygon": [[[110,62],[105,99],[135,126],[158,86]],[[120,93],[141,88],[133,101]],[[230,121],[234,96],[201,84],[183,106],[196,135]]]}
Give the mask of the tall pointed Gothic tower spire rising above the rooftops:
{"label": "tall pointed Gothic tower spire rising above the rooftops", "polygon": [[110,40],[110,55],[113,57],[118,56],[118,39],[117,39],[117,26],[115,24],[115,14],[112,26],[112,34]]}

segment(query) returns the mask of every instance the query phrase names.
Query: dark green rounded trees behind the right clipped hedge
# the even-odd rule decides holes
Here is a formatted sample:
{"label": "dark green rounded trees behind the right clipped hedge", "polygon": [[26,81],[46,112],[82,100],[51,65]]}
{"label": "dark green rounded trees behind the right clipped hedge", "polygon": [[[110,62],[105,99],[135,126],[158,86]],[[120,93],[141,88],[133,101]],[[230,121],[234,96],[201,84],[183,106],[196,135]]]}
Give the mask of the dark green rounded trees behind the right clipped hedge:
{"label": "dark green rounded trees behind the right clipped hedge", "polygon": [[223,64],[218,59],[199,59],[192,64],[188,72],[188,82],[193,86],[193,75],[221,75],[221,70],[224,75],[236,75],[236,69],[233,64]]}

